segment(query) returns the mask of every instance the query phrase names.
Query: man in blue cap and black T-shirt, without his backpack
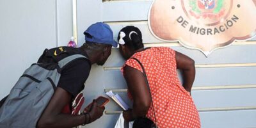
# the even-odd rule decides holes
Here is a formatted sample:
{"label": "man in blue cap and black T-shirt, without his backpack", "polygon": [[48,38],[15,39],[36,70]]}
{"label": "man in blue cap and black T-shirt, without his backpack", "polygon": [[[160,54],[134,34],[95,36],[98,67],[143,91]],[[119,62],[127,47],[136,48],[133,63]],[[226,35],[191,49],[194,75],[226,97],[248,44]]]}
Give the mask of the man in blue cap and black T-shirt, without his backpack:
{"label": "man in blue cap and black T-shirt, without his backpack", "polygon": [[91,65],[104,65],[111,47],[116,47],[113,40],[113,32],[107,24],[97,22],[84,31],[86,43],[79,48],[57,47],[47,52],[54,54],[56,58],[47,58],[44,54],[38,62],[59,61],[72,54],[82,54],[87,60],[75,60],[69,63],[61,71],[60,81],[52,95],[52,98],[37,122],[37,127],[75,127],[77,125],[90,124],[102,116],[105,108],[97,106],[93,100],[88,113],[82,115],[70,115],[62,113],[67,104],[84,89],[84,82],[89,76]]}

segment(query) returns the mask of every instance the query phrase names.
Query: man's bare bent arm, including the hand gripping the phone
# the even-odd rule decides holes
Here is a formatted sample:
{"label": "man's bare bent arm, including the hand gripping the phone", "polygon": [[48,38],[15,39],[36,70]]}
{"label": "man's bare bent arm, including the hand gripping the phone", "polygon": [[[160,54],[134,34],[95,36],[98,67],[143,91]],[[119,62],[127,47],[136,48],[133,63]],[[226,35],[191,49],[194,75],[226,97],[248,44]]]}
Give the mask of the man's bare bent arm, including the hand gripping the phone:
{"label": "man's bare bent arm, including the hand gripping the phone", "polygon": [[37,127],[75,127],[84,123],[89,124],[102,116],[104,108],[100,108],[95,102],[93,102],[89,112],[91,116],[90,122],[88,121],[89,116],[61,113],[61,110],[66,104],[70,103],[70,100],[71,94],[57,87],[52,99],[38,120]]}

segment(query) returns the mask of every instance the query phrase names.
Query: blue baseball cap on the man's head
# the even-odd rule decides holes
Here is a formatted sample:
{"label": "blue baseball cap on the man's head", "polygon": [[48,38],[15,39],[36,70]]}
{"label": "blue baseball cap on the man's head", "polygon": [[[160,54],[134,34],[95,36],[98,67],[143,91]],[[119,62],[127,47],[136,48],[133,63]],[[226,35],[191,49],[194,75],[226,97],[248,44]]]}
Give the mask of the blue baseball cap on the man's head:
{"label": "blue baseball cap on the man's head", "polygon": [[92,24],[86,31],[84,31],[85,40],[100,44],[110,44],[117,47],[117,42],[114,40],[113,31],[103,22]]}

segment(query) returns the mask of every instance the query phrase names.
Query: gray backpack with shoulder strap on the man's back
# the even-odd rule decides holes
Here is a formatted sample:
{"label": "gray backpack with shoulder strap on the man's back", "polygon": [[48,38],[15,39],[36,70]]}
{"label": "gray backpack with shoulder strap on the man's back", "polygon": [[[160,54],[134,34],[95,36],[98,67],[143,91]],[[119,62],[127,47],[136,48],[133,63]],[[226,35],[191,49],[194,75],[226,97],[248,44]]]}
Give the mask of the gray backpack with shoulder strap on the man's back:
{"label": "gray backpack with shoulder strap on the man's back", "polygon": [[0,128],[36,127],[61,76],[61,69],[71,61],[86,59],[81,54],[63,58],[58,63],[31,65],[12,88],[0,108]]}

